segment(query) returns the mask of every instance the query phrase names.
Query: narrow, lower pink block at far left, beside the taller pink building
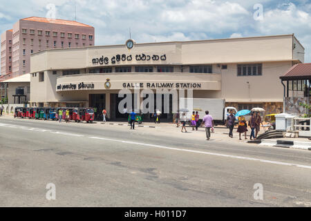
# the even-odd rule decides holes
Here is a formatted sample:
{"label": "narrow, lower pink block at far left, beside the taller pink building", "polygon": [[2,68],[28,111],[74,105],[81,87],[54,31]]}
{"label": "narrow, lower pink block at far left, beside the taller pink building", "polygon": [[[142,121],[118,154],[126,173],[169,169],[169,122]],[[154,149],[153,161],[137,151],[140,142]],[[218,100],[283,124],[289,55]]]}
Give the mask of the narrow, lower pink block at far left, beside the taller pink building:
{"label": "narrow, lower pink block at far left, beside the taller pink building", "polygon": [[12,30],[1,35],[1,75],[12,73]]}

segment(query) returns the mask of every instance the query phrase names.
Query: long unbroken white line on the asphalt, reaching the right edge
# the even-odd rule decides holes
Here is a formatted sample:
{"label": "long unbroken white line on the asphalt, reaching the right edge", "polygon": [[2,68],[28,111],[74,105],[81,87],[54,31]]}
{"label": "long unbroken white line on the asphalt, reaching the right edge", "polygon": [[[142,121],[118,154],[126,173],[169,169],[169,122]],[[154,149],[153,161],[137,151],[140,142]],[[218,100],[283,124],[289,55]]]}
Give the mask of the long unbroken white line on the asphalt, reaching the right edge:
{"label": "long unbroken white line on the asphalt, reaching the right edge", "polygon": [[263,160],[263,159],[253,158],[253,157],[243,157],[243,156],[228,155],[228,154],[222,154],[222,153],[211,153],[211,152],[206,152],[206,151],[194,151],[194,150],[189,150],[189,149],[184,149],[184,148],[175,148],[175,147],[162,146],[162,145],[157,145],[157,144],[145,144],[145,143],[139,143],[139,142],[124,141],[124,140],[113,140],[113,139],[103,138],[103,137],[89,137],[89,138],[98,139],[98,140],[108,140],[108,141],[112,141],[112,142],[121,142],[124,144],[136,144],[136,145],[142,145],[142,146],[164,148],[164,149],[169,149],[169,150],[173,150],[173,151],[184,151],[184,152],[189,152],[189,153],[201,153],[201,154],[207,154],[207,155],[215,155],[215,156],[219,156],[219,157],[230,157],[230,158],[241,159],[241,160],[252,160],[252,161],[258,161],[258,162],[264,162],[264,163],[270,163],[270,164],[279,164],[279,165],[284,165],[284,166],[297,166],[297,167],[301,167],[301,168],[305,168],[305,169],[311,169],[311,166],[308,166],[308,165],[292,164],[292,163],[278,162],[278,161],[272,161],[272,160]]}

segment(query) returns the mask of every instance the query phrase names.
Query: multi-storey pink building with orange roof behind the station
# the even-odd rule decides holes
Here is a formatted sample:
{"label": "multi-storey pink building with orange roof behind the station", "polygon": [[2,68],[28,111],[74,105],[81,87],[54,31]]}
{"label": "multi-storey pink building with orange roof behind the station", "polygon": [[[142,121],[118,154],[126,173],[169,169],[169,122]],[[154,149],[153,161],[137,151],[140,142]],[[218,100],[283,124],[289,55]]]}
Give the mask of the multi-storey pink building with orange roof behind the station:
{"label": "multi-storey pink building with orange roof behind the station", "polygon": [[[8,32],[8,31],[7,31]],[[48,48],[77,48],[93,46],[95,30],[92,26],[77,21],[29,17],[14,24],[10,35],[1,35],[1,75],[10,73],[17,77],[30,72],[30,55]],[[8,45],[10,38],[12,45]],[[3,48],[11,47],[12,53]],[[8,63],[11,59],[12,63]]]}

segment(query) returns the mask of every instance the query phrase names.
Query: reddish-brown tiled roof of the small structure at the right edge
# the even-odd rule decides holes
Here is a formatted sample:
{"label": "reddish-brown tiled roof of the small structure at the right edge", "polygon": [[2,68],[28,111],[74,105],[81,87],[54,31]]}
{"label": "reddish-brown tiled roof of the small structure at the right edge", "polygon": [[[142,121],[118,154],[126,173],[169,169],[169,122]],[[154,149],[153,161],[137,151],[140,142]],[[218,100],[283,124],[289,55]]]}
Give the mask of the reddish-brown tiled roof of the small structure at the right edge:
{"label": "reddish-brown tiled roof of the small structure at the right edge", "polygon": [[296,64],[280,78],[282,80],[311,79],[311,63]]}

